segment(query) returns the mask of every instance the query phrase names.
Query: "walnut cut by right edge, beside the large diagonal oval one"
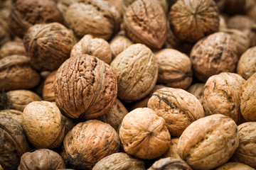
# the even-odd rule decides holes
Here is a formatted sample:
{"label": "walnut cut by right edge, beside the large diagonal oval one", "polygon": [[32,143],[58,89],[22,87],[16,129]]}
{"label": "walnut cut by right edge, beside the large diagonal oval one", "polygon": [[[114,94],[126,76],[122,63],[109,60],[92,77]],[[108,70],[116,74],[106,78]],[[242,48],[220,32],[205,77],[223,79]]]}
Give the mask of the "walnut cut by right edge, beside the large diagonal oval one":
{"label": "walnut cut by right edge, beside the large diagonal oval one", "polygon": [[238,126],[239,146],[232,159],[256,169],[256,122],[242,123]]}

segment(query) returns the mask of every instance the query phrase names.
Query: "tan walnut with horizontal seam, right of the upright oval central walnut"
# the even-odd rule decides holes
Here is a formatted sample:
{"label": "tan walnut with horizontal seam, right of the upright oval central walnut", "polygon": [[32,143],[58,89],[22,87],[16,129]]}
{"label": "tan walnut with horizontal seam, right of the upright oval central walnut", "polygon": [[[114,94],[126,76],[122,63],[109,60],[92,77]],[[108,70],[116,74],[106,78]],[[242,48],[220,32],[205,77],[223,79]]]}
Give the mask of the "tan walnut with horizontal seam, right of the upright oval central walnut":
{"label": "tan walnut with horizontal seam, right of the upright oval central walnut", "polygon": [[166,86],[187,89],[192,83],[190,58],[174,49],[164,49],[155,53],[159,65],[158,83]]}

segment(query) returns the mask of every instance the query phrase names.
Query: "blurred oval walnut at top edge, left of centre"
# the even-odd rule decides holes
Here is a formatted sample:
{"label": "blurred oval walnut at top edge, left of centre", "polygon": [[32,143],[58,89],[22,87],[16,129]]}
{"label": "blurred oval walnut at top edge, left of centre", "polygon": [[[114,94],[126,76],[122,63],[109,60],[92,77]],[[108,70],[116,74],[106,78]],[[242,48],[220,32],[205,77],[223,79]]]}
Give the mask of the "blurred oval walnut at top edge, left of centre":
{"label": "blurred oval walnut at top edge, left of centre", "polygon": [[81,0],[68,6],[65,21],[75,35],[82,38],[90,34],[109,40],[119,30],[120,16],[108,1]]}

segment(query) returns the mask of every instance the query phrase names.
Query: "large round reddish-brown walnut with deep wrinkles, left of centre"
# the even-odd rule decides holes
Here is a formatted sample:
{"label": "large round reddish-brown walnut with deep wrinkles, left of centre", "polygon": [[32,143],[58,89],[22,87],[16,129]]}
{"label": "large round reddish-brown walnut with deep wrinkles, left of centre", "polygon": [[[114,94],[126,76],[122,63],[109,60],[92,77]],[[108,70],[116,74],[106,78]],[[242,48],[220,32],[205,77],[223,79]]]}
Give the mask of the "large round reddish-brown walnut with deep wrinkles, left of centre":
{"label": "large round reddish-brown walnut with deep wrinkles, left of centre", "polygon": [[117,97],[112,68],[90,55],[66,60],[53,83],[55,102],[68,118],[93,119],[110,111]]}

